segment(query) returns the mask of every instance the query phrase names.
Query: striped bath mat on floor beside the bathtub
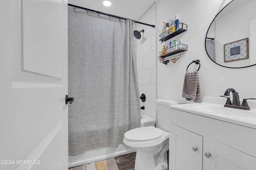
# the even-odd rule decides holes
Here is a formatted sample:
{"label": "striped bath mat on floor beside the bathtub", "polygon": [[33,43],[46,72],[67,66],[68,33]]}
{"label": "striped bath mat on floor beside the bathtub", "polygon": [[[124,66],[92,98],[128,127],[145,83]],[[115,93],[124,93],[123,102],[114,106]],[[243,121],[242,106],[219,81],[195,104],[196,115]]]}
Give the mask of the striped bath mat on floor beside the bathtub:
{"label": "striped bath mat on floor beside the bathtub", "polygon": [[115,158],[92,162],[90,164],[70,168],[69,170],[119,170]]}

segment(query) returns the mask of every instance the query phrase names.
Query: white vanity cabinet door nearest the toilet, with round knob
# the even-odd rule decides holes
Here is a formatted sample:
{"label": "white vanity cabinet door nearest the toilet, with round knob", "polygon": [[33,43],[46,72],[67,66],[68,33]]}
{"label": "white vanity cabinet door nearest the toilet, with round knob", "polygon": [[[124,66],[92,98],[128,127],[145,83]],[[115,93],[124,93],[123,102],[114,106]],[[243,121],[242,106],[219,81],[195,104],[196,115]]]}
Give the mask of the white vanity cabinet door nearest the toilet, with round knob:
{"label": "white vanity cabinet door nearest the toilet, with round knob", "polygon": [[202,170],[203,137],[172,124],[169,133],[169,170]]}

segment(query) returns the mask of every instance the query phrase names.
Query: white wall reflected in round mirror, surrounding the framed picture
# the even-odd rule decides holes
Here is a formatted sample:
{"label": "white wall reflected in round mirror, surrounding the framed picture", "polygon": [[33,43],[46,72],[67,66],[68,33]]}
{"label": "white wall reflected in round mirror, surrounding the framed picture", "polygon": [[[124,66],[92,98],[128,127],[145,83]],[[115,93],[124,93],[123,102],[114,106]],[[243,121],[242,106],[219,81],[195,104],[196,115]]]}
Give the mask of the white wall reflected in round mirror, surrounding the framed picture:
{"label": "white wall reflected in round mirror, surrounding the framed picture", "polygon": [[[250,47],[253,48],[253,46],[250,46],[251,45],[250,40],[252,39],[252,37],[250,37],[250,29],[255,31],[255,27],[252,27],[252,25],[250,24],[250,21],[255,20],[255,14],[251,13],[252,11],[255,11],[254,9],[255,6],[256,6],[256,2],[252,2],[216,20],[215,39],[218,40],[218,41],[215,41],[216,63],[223,66],[228,66],[228,67],[237,67],[237,64],[239,64],[240,66],[248,66],[250,65],[250,63],[256,64],[250,61],[251,57],[254,57],[254,55],[250,55],[250,54],[249,54],[249,59],[224,63],[224,51],[223,51],[224,44],[238,41],[240,39],[245,39],[248,37],[249,37],[249,51],[250,51]],[[248,12],[245,12],[245,11],[248,11]],[[242,21],[241,29],[237,26],[230,27],[229,24],[226,24],[227,22],[236,23],[238,21]]]}

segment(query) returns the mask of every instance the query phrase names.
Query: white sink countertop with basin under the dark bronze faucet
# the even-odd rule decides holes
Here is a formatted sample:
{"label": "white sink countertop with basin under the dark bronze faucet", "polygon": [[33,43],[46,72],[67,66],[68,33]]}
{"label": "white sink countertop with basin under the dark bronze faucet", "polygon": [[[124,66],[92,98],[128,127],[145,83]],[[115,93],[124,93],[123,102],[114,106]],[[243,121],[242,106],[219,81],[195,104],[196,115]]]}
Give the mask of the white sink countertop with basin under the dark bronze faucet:
{"label": "white sink countertop with basin under the dark bronze faucet", "polygon": [[209,98],[207,97],[206,102],[203,98],[202,103],[174,105],[170,108],[256,129],[256,109],[253,108],[255,104],[250,103],[253,106],[251,110],[241,110],[224,107],[226,100],[219,102],[218,98],[214,98],[212,102]]}

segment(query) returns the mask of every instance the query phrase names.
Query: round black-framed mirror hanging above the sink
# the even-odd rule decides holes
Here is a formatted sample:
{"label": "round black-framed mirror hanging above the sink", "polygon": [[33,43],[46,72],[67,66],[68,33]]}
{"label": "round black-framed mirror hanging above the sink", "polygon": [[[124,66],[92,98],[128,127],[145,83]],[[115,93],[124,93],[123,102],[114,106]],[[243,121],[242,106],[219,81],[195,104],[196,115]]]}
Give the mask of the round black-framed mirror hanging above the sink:
{"label": "round black-framed mirror hanging above the sink", "polygon": [[232,0],[213,19],[205,38],[207,55],[228,68],[256,65],[256,0]]}

